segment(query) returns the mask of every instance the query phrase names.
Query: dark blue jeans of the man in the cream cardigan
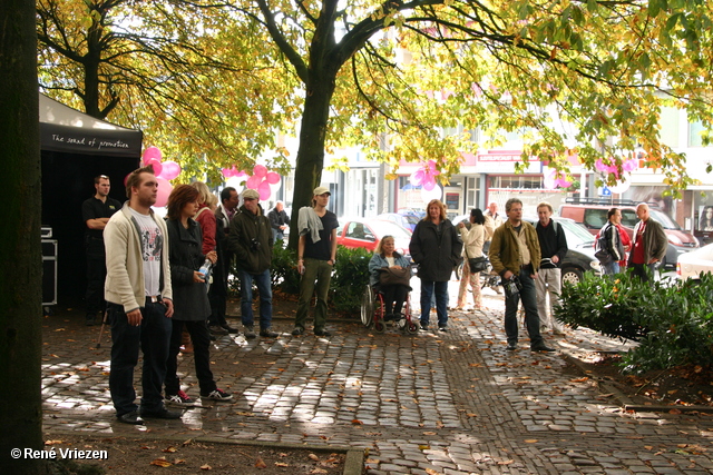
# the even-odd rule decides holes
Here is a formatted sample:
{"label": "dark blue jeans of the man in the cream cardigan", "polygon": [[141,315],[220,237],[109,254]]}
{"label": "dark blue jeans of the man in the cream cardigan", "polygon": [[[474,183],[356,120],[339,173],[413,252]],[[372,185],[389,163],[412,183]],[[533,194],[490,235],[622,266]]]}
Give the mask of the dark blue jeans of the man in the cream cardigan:
{"label": "dark blue jeans of the man in the cream cardigan", "polygon": [[109,390],[116,415],[121,416],[138,408],[135,403],[134,368],[138,364],[139,346],[144,354],[141,409],[160,409],[164,407],[162,389],[172,331],[170,318],[166,318],[166,307],[160,303],[147,303],[141,308],[141,324],[137,327],[129,325],[123,306],[109,304],[108,310],[111,321]]}

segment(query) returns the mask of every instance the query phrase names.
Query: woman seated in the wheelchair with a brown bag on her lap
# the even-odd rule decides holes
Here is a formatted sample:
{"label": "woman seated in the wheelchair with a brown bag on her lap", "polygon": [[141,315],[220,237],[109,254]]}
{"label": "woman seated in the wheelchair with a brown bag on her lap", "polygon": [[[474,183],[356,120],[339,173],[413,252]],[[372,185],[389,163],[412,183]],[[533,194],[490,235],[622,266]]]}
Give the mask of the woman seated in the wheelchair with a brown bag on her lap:
{"label": "woman seated in the wheelchair with a brown bag on her lap", "polygon": [[384,320],[400,320],[403,303],[411,290],[411,265],[394,250],[393,236],[384,236],[369,261],[369,284],[383,295]]}

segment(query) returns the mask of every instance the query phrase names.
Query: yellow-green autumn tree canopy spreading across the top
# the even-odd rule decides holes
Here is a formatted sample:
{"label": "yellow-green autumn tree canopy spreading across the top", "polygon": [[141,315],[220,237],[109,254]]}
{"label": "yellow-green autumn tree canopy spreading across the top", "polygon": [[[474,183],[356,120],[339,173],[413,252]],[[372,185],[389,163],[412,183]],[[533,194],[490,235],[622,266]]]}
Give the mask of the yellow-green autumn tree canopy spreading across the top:
{"label": "yellow-green autumn tree canopy spreading across the top", "polygon": [[[179,147],[188,147],[179,137],[199,140],[231,160],[277,150],[270,136],[300,119],[295,208],[320,181],[325,149],[358,145],[393,167],[432,158],[447,179],[463,152],[476,151],[475,131],[486,147],[519,133],[524,160],[558,168],[573,152],[589,168],[597,159],[621,166],[638,147],[681,189],[693,180],[685,157],[661,142],[662,108],[711,125],[712,7],[702,0],[106,3],[123,12],[102,27],[106,34],[138,46],[109,56],[130,66],[107,61],[104,109],[113,88],[130,82],[127,69],[150,77],[146,90],[127,93],[126,106],[119,100],[123,117],[110,118],[173,129],[164,137]],[[135,18],[141,28],[127,20]],[[68,70],[66,57],[42,34],[40,41],[57,69]],[[149,46],[170,53],[148,60]],[[80,76],[43,72],[53,87]],[[225,120],[208,117],[211,103],[229,101],[237,103]],[[457,128],[462,132],[445,133]],[[208,160],[221,162],[219,154]]]}

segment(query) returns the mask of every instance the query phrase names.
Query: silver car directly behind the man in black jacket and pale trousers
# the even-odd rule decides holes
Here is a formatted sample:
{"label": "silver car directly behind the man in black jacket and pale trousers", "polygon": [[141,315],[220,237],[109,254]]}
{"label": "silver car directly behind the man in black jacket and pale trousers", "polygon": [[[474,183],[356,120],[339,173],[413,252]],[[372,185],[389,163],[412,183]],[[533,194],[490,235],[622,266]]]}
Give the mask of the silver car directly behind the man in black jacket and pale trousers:
{"label": "silver car directly behind the man in black jacket and pale trousers", "polygon": [[[537,218],[525,217],[524,220],[537,226]],[[567,218],[553,218],[557,221],[567,237],[567,255],[561,261],[561,283],[577,284],[584,273],[592,271],[602,275],[602,265],[594,257],[594,236],[586,228]]]}

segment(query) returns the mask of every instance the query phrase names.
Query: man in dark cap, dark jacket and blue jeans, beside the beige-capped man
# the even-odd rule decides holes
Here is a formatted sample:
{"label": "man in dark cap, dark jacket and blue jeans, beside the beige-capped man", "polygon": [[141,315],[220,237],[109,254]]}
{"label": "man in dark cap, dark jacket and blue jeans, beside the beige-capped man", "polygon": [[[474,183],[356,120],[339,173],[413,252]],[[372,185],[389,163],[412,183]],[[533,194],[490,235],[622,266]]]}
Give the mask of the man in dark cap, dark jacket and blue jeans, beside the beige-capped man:
{"label": "man in dark cap, dark jacket and blue jeans, beside the beige-capped man", "polygon": [[241,314],[245,338],[255,338],[253,324],[253,281],[260,294],[260,336],[274,338],[272,331],[272,228],[258,204],[257,191],[243,191],[243,206],[231,221],[228,248],[235,254],[241,280]]}

